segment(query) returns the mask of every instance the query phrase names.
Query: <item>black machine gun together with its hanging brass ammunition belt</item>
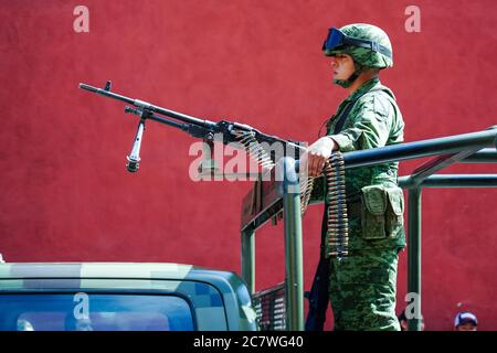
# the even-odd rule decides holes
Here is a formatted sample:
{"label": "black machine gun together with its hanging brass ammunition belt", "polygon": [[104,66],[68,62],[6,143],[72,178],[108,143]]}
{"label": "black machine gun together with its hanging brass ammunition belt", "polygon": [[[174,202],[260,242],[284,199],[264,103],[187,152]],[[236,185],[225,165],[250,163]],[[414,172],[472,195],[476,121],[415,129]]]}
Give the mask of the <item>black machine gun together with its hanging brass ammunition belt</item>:
{"label": "black machine gun together with its hanging brass ammunition belt", "polygon": [[[125,107],[125,113],[134,114],[140,117],[133,149],[127,157],[128,163],[126,164],[126,168],[129,172],[137,172],[139,169],[139,151],[146,120],[154,120],[181,129],[192,137],[203,139],[204,142],[211,147],[214,141],[214,135],[222,135],[222,142],[224,145],[235,142],[235,146],[243,148],[248,156],[257,161],[257,163],[263,168],[263,171],[272,171],[276,164],[277,156],[274,156],[274,153],[272,156],[274,150],[272,151],[268,149],[274,143],[279,143],[284,148],[283,152],[285,156],[288,156],[288,150],[292,150],[294,152],[294,156],[292,157],[295,159],[298,159],[299,157],[299,153],[295,153],[296,151],[300,152],[306,150],[304,143],[302,142],[284,140],[276,136],[263,133],[245,124],[232,122],[228,120],[214,122],[205,119],[199,119],[140,99],[133,99],[118,95],[110,92],[110,86],[112,84],[109,81],[105,84],[105,88],[96,88],[87,84],[80,84],[80,88],[82,89],[120,100],[135,107]],[[210,150],[212,151],[212,148]],[[345,165],[341,153],[332,153],[331,158],[326,162],[322,172],[327,183],[327,197],[328,200],[334,200],[332,204],[329,204],[327,207],[329,220],[334,218],[338,221],[339,225],[338,227],[336,225],[329,227],[327,236],[327,243],[330,248],[329,254],[331,256],[342,257],[347,255],[348,233],[347,200],[345,194]],[[309,203],[314,182],[315,178],[305,176],[299,180],[303,214]]]}

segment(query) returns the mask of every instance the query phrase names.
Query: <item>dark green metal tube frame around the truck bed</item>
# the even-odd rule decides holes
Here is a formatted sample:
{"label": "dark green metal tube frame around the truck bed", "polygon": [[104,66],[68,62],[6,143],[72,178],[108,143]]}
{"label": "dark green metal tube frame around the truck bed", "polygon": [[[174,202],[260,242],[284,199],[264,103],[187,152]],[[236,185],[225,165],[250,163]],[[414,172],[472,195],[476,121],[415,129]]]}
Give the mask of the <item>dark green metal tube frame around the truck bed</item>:
{"label": "dark green metal tube frame around the truck bed", "polygon": [[[488,148],[491,147],[491,148]],[[485,131],[450,136],[440,139],[400,143],[343,154],[346,169],[368,167],[384,162],[437,158],[417,168],[412,175],[399,178],[399,185],[409,189],[408,212],[408,292],[415,293],[415,312],[421,313],[421,235],[422,190],[424,188],[497,188],[497,174],[444,174],[433,173],[453,164],[497,163],[497,126]],[[283,182],[283,211],[285,218],[285,282],[287,299],[287,329],[304,330],[304,279],[302,255],[300,199],[295,192],[295,169],[292,159],[285,158]],[[292,167],[292,168],[289,168]],[[293,170],[293,171],[292,171]],[[289,182],[288,182],[289,181]],[[289,192],[288,185],[294,189]],[[297,183],[298,188],[298,183]],[[298,190],[298,189],[297,189]],[[271,210],[274,216],[281,210]],[[268,215],[261,213],[260,217]],[[253,222],[257,223],[257,222]],[[260,224],[264,224],[261,222]],[[242,224],[242,278],[252,293],[255,290],[255,231],[251,224]],[[421,330],[420,318],[408,320],[409,330]]]}

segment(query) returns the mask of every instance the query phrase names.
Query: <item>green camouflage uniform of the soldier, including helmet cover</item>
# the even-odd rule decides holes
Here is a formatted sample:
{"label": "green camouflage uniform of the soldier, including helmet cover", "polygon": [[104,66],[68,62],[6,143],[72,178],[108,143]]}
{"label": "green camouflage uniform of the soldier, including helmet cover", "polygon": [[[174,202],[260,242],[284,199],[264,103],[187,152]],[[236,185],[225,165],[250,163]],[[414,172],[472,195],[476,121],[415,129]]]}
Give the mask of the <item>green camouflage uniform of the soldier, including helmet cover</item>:
{"label": "green camouflage uniform of the soldier, including helmet cover", "polygon": [[[352,24],[341,29],[346,35],[377,41],[389,47],[380,29]],[[350,54],[357,76],[367,67],[389,67],[390,57],[364,47],[345,46],[325,50],[326,55]],[[347,87],[350,83],[335,82]],[[352,104],[343,126],[337,120]],[[366,82],[345,99],[327,125],[341,152],[394,145],[403,141],[404,122],[393,93],[378,77]],[[336,330],[400,330],[395,317],[398,253],[405,246],[403,231],[403,193],[396,185],[399,163],[347,170],[346,192],[349,202],[357,201],[360,213],[349,211],[349,256],[330,258],[329,299]],[[326,236],[326,212],[322,236]],[[327,244],[327,242],[324,242]],[[321,256],[327,249],[322,247]]]}

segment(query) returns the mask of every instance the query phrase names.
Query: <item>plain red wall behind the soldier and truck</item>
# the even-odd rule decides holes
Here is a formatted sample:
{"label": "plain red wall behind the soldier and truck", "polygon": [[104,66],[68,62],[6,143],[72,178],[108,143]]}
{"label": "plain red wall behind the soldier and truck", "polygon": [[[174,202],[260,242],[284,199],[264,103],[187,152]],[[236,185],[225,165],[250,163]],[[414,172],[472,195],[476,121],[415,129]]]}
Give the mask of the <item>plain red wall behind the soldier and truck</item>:
{"label": "plain red wall behind the soldier and truck", "polygon": [[[77,4],[89,33],[73,30]],[[395,66],[405,139],[472,132],[497,124],[495,1],[181,0],[0,1],[3,128],[0,253],[8,261],[173,261],[240,270],[241,200],[250,182],[195,183],[194,140],[149,122],[141,169],[127,173],[137,119],[123,104],[77,88],[112,79],[117,93],[209,119],[243,121],[313,141],[345,90],[320,46],[331,25],[380,25]],[[421,161],[405,162],[405,175]],[[494,172],[457,165],[446,172]],[[423,314],[451,330],[473,310],[497,327],[497,191],[423,194]],[[304,220],[305,278],[317,263],[321,208]],[[257,233],[257,289],[284,279],[282,226]],[[406,254],[399,306],[404,306]]]}

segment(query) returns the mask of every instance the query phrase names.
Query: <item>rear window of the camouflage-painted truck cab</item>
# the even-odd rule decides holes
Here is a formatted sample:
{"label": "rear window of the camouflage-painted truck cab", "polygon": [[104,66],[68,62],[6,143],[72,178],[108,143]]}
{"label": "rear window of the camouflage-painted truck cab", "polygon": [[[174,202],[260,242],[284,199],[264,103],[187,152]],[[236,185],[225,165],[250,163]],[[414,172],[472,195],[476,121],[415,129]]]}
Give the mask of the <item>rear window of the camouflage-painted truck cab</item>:
{"label": "rear window of the camouflage-painted truck cab", "polygon": [[145,295],[1,295],[2,331],[191,331],[187,301]]}

